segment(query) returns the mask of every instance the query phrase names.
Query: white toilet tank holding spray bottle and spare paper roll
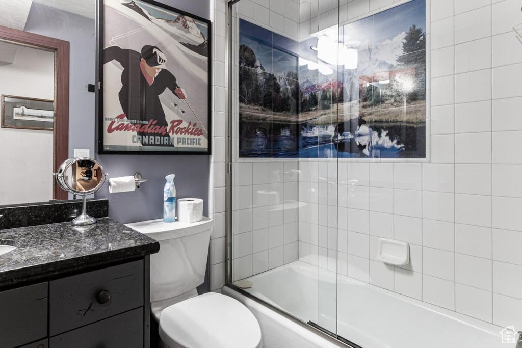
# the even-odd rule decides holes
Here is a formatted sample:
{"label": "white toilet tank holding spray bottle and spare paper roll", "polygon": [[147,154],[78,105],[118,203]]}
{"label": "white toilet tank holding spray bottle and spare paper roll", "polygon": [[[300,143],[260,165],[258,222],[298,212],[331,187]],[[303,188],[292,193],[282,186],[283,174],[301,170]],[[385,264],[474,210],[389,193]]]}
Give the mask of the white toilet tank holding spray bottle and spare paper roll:
{"label": "white toilet tank holding spray bottle and spare paper roll", "polygon": [[150,301],[156,302],[196,289],[205,280],[212,219],[163,222],[163,219],[126,224],[160,243],[150,255]]}

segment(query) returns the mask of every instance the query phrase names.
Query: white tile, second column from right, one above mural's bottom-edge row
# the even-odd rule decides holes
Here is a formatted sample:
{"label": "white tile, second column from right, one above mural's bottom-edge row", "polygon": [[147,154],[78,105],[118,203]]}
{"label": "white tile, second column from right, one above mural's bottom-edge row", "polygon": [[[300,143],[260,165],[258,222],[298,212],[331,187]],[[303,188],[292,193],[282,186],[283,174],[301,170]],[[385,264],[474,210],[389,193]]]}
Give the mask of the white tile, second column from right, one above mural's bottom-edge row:
{"label": "white tile, second column from right, one above mural's bottom-edge row", "polygon": [[491,131],[491,115],[491,100],[455,104],[455,133]]}

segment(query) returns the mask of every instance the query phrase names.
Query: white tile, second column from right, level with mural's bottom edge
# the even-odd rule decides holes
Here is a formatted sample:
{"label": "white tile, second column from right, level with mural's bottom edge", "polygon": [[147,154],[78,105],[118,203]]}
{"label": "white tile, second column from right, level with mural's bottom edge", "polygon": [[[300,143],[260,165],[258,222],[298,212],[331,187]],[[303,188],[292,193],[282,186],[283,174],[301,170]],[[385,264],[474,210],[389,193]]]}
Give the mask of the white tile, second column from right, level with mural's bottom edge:
{"label": "white tile, second column from right, level with mural's bottom edge", "polygon": [[491,163],[491,133],[455,134],[455,163]]}

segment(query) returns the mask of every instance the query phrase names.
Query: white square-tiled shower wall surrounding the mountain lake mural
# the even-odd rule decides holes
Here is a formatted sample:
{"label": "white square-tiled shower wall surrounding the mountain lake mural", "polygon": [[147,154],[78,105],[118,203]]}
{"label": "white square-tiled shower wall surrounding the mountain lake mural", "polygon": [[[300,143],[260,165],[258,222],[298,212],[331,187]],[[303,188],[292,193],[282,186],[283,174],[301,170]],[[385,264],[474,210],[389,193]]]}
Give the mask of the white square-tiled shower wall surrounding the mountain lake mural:
{"label": "white square-tiled shower wall surrounding the mountain lake mural", "polygon": [[[336,12],[321,0],[292,1],[241,0],[240,11],[265,26],[275,18],[272,13],[284,16],[283,25],[272,23],[274,31],[305,38],[333,16],[350,20],[393,3],[353,0]],[[287,21],[292,23],[287,26]],[[234,246],[234,278],[299,258],[499,326],[522,327],[522,284],[520,277],[513,277],[522,271],[522,85],[508,83],[522,78],[522,43],[512,31],[520,22],[517,0],[431,2],[426,26],[431,162],[339,160],[332,166],[302,159],[294,167],[300,171],[298,186],[274,174],[289,173],[287,163],[295,166],[295,161],[243,164],[240,173],[245,177],[239,177],[238,184],[252,187],[253,208],[245,206],[250,194],[244,189],[239,205],[246,218],[238,221],[250,226],[251,216],[252,225],[250,230],[239,227],[245,236],[235,236],[252,245]],[[295,29],[293,23],[300,25]],[[220,40],[215,38],[214,47]],[[215,52],[213,57],[219,60],[224,54]],[[215,70],[215,75],[222,74],[222,69]],[[223,111],[215,110],[215,118],[224,117]],[[221,149],[224,131],[213,129],[215,149]],[[224,154],[218,150],[216,158],[224,159]],[[218,165],[215,169],[221,171]],[[223,179],[213,182],[221,185]],[[220,187],[211,195],[217,223],[214,248],[224,242],[219,239],[224,236]],[[283,202],[295,190],[304,206],[294,215],[279,213],[275,201],[256,196],[261,189],[278,191]],[[377,261],[380,237],[410,243],[411,264],[394,268]],[[223,254],[216,251],[213,289],[224,282]],[[253,254],[241,256],[245,253]]]}

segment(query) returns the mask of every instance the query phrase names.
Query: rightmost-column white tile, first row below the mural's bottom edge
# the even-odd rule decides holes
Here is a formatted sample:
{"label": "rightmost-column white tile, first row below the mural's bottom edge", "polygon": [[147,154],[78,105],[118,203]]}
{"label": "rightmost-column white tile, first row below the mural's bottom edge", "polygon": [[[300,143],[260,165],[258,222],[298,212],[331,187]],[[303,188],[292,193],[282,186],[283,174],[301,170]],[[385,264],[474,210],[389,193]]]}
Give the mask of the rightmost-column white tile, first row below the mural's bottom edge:
{"label": "rightmost-column white tile, first row below the mural's bottom edge", "polygon": [[493,195],[522,198],[522,165],[493,165]]}

